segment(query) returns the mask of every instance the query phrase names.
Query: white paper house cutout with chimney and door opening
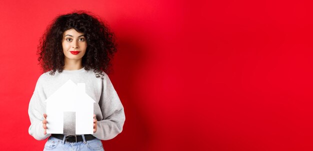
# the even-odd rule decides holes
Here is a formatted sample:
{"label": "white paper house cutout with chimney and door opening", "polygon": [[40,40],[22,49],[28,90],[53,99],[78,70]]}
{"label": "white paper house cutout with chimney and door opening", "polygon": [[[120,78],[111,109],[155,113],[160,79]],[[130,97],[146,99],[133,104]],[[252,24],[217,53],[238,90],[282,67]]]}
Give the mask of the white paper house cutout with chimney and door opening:
{"label": "white paper house cutout with chimney and door opening", "polygon": [[75,112],[75,134],[93,134],[93,103],[86,94],[85,83],[70,79],[46,100],[47,134],[63,134],[63,115]]}

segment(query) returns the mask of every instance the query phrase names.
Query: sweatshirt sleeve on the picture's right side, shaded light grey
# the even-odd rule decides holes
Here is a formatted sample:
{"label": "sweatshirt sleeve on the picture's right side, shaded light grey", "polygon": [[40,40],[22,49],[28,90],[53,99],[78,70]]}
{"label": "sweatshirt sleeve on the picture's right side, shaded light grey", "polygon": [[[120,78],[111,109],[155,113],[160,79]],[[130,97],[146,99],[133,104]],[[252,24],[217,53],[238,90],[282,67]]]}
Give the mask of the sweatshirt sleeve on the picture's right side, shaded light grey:
{"label": "sweatshirt sleeve on the picture's right side, shaded light grey", "polygon": [[101,109],[103,119],[97,121],[97,130],[93,136],[100,140],[113,139],[122,131],[125,114],[119,97],[114,90],[110,79],[105,73],[102,80],[99,107]]}

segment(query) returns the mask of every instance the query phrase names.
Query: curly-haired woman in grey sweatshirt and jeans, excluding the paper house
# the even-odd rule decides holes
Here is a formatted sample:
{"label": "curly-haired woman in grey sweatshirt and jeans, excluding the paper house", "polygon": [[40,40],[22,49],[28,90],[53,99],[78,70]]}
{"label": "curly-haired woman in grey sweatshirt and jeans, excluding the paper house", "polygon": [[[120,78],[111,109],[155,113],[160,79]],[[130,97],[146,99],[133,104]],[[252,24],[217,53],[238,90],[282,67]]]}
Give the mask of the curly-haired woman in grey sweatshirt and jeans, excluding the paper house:
{"label": "curly-haired woman in grey sweatshirt and jeans, excluding the paper house", "polygon": [[[38,78],[29,102],[28,132],[36,140],[47,140],[49,151],[103,151],[100,140],[121,133],[124,109],[107,76],[116,52],[113,33],[96,17],[83,11],[57,16],[40,40],[37,54],[43,74]],[[78,135],[72,116],[64,117],[63,134],[46,134],[45,100],[67,80],[85,83],[94,103],[92,135]]]}

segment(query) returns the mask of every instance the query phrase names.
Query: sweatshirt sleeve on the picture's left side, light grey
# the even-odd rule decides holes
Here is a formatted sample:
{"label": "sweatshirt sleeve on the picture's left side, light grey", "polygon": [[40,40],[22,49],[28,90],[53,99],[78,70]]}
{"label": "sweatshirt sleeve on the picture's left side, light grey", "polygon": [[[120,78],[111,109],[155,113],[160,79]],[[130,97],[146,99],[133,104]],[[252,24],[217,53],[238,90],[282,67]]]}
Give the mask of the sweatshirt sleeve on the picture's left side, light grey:
{"label": "sweatshirt sleeve on the picture's left side, light grey", "polygon": [[42,120],[44,119],[43,114],[45,113],[44,101],[45,95],[43,93],[39,77],[28,106],[28,115],[30,120],[28,133],[36,140],[44,140],[50,136],[50,134],[43,134],[44,129],[42,127]]}

